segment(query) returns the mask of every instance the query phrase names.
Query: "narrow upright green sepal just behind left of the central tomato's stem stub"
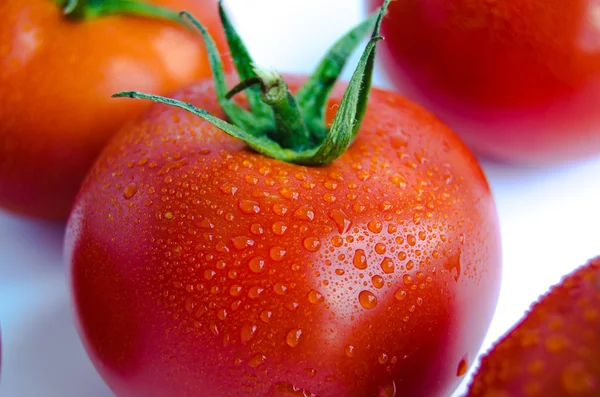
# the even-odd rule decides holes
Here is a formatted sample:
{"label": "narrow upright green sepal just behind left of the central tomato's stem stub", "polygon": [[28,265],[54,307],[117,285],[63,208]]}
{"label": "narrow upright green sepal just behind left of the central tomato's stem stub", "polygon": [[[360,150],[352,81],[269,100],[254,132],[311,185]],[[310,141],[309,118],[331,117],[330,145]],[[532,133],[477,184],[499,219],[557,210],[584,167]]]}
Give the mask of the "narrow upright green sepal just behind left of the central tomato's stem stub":
{"label": "narrow upright green sepal just behind left of the central tomato's stem stub", "polygon": [[[247,81],[257,77],[256,73],[254,73],[254,62],[248,52],[248,48],[223,9],[222,0],[219,0],[219,14],[221,16],[221,23],[223,24],[223,30],[225,31],[225,37],[227,38],[231,57],[240,81]],[[271,109],[261,101],[260,89],[258,87],[249,87],[246,90],[246,97],[248,98],[250,110],[256,118],[260,120],[268,120],[270,118]]]}

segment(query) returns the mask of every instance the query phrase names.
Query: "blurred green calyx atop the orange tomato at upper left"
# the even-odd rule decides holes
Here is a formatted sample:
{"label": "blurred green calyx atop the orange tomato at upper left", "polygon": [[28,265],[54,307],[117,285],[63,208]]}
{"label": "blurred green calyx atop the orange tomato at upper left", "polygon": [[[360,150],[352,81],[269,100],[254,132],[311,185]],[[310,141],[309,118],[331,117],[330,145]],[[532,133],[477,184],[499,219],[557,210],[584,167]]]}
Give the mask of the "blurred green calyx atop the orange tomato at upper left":
{"label": "blurred green calyx atop the orange tomato at upper left", "polygon": [[131,15],[179,22],[175,11],[136,0],[57,0],[63,14],[71,20],[93,19],[106,15]]}

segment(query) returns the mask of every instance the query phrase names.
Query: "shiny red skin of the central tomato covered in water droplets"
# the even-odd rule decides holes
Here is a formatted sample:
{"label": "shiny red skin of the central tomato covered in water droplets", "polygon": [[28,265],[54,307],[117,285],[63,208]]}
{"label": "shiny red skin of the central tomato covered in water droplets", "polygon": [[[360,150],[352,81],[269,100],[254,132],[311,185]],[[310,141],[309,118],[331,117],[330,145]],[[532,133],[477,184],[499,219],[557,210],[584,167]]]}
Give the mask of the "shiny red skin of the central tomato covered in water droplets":
{"label": "shiny red skin of the central tomato covered in water droplets", "polygon": [[[211,82],[175,97],[223,116]],[[379,90],[349,150],[315,168],[153,105],[92,168],[65,258],[80,335],[119,397],[446,396],[500,280],[476,159]]]}

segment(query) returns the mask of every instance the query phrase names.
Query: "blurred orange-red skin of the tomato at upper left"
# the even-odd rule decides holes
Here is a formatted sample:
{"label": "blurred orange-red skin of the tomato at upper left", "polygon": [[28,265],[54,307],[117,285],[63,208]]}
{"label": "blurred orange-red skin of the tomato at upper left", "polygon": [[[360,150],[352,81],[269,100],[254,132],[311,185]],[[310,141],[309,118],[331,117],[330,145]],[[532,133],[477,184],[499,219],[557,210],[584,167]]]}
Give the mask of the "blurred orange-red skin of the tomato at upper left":
{"label": "blurred orange-red skin of the tomato at upper left", "polygon": [[[213,1],[152,3],[219,26]],[[70,22],[52,0],[4,0],[0,14],[0,206],[17,213],[66,220],[106,141],[147,106],[112,94],[166,94],[210,75],[201,40],[172,22]]]}

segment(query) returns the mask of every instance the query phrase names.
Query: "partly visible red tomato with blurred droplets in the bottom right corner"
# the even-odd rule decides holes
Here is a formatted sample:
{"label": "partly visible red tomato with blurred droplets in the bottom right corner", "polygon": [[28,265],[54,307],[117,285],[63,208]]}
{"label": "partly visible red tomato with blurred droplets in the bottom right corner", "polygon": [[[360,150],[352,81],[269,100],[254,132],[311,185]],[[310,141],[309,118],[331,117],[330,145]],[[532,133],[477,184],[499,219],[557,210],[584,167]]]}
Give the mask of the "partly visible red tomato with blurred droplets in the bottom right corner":
{"label": "partly visible red tomato with blurred droplets in the bottom right corner", "polygon": [[468,396],[600,396],[600,257],[567,276],[483,358]]}

